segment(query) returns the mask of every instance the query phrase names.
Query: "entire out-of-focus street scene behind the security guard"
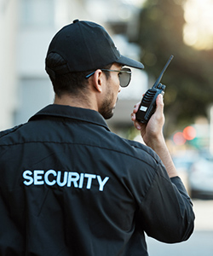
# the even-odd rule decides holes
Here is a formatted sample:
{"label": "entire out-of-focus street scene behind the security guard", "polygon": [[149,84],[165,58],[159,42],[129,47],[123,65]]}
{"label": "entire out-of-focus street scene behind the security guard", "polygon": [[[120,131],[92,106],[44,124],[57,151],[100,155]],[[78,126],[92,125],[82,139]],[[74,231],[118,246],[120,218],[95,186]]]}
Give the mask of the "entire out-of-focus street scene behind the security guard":
{"label": "entire out-of-focus street scene behind the security guard", "polygon": [[55,32],[72,20],[105,26],[123,55],[141,61],[119,94],[111,130],[141,140],[130,113],[164,73],[164,136],[193,198],[195,232],[167,245],[147,238],[151,256],[213,255],[213,0],[0,0],[0,131],[51,104],[44,70]]}

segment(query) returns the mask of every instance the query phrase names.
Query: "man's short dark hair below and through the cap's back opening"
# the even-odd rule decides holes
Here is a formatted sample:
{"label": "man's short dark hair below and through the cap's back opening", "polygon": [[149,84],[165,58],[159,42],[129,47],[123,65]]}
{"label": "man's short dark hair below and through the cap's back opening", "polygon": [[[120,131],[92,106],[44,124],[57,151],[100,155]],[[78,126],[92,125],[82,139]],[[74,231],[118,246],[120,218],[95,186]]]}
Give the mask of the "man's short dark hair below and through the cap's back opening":
{"label": "man's short dark hair below and through the cap's back opening", "polygon": [[[112,64],[109,64],[100,68],[109,69],[111,66]],[[59,54],[50,53],[47,55],[46,70],[49,73],[49,79],[52,81],[57,96],[61,96],[64,93],[77,95],[80,90],[84,90],[88,85],[88,79],[85,78],[86,75],[94,71],[64,73],[66,69],[66,61]],[[108,79],[110,73],[106,72],[106,76]]]}

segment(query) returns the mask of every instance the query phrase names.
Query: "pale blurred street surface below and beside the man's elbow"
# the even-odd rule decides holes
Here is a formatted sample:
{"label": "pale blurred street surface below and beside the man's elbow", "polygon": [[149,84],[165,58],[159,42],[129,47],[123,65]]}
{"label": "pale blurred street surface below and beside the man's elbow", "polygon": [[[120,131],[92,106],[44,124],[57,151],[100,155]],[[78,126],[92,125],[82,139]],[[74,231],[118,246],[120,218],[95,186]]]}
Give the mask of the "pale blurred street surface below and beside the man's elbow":
{"label": "pale blurred street surface below and beside the man's elbow", "polygon": [[195,230],[188,241],[165,244],[147,237],[149,256],[212,256],[213,201],[193,200]]}

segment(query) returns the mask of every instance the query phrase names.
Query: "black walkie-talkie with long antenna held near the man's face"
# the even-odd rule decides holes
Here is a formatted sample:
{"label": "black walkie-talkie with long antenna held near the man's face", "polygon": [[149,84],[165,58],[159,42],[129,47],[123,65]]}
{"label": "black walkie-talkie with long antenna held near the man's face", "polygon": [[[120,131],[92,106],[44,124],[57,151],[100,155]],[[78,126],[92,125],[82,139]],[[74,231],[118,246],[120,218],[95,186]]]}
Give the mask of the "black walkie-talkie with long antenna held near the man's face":
{"label": "black walkie-talkie with long antenna held near the man's face", "polygon": [[160,83],[166,68],[169,66],[170,61],[173,59],[173,55],[170,55],[169,61],[164,66],[164,69],[160,73],[158,79],[154,83],[153,87],[147,90],[141,100],[140,107],[136,113],[136,119],[144,124],[147,124],[148,120],[153,115],[156,108],[156,99],[159,94],[164,95],[165,85]]}

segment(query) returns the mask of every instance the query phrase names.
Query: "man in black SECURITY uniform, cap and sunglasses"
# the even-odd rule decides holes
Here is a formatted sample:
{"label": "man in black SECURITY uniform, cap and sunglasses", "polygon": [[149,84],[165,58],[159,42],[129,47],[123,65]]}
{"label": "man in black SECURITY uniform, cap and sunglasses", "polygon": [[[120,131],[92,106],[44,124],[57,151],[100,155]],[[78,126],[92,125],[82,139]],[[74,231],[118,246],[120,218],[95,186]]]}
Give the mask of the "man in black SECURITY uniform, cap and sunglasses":
{"label": "man in black SECURITY uniform, cap and sunglasses", "polygon": [[132,113],[148,147],[103,119],[130,83],[129,67],[143,65],[93,22],[74,20],[55,35],[46,57],[54,104],[0,133],[2,256],[148,255],[145,232],[168,243],[192,234],[192,202],[162,134],[162,96],[147,125],[135,120],[138,105]]}

